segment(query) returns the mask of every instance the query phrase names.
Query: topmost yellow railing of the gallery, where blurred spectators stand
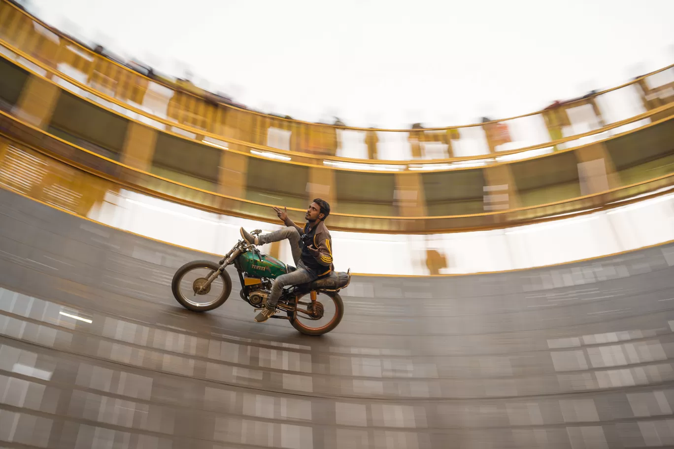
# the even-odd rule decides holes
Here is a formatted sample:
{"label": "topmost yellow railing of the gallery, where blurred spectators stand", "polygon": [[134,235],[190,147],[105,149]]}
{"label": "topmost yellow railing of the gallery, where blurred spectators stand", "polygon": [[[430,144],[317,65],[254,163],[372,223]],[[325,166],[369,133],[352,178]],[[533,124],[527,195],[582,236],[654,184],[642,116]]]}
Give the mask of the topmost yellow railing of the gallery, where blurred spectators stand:
{"label": "topmost yellow railing of the gallery, where blurred spectators stand", "polygon": [[[5,55],[14,53],[9,57],[15,61],[35,65],[64,84],[96,92],[164,131],[187,132],[205,144],[247,154],[253,148],[342,169],[436,171],[456,169],[465,160],[492,164],[530,150],[569,148],[581,138],[611,129],[619,132],[619,127],[642,119],[660,119],[658,114],[674,100],[674,82],[663,78],[672,70],[669,66],[547,111],[499,121],[427,129],[322,125],[247,111],[218,102],[194,86],[148,78],[2,0],[0,39]],[[638,98],[640,104],[634,111],[615,115],[612,98],[620,93]]]}

